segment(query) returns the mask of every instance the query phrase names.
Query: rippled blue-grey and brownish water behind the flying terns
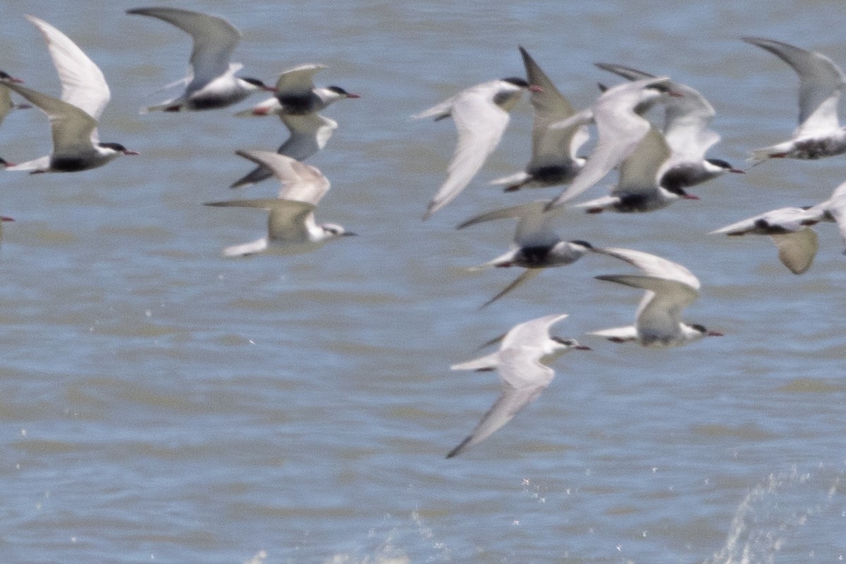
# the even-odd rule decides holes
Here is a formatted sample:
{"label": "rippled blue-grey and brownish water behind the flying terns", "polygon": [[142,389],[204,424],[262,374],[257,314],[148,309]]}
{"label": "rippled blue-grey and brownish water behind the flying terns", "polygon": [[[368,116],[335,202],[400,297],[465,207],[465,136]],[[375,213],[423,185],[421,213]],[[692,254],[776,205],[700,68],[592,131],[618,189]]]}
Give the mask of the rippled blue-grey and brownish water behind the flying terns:
{"label": "rippled blue-grey and brownish water behind the flying terns", "polygon": [[[310,162],[332,181],[319,220],[360,233],[294,257],[227,260],[261,211],[203,202],[275,149],[276,119],[232,111],[139,115],[184,73],[190,41],[120,2],[3,4],[0,68],[58,94],[35,14],[102,68],[101,138],[139,150],[74,175],[3,174],[0,268],[0,560],[4,562],[833,562],[846,554],[843,272],[833,225],[816,263],[788,273],[764,238],[706,232],[821,201],[846,157],[773,161],[653,214],[568,213],[563,236],[684,263],[702,282],[685,317],[722,331],[674,350],[585,335],[629,323],[626,272],[583,259],[485,310],[518,273],[465,267],[504,251],[508,221],[456,231],[521,168],[524,100],[475,182],[427,222],[452,122],[409,115],[523,72],[525,46],[575,106],[619,62],[692,85],[717,109],[710,155],[795,127],[796,78],[739,41],[762,35],[846,65],[838,0],[797,3],[180,3],[244,33],[236,60],[272,81],[303,62],[360,93]],[[251,99],[251,102],[259,98]],[[242,106],[247,106],[244,103]],[[240,107],[240,106],[239,106]],[[0,155],[49,149],[47,119],[16,111]],[[606,182],[613,182],[609,177]],[[598,196],[601,187],[589,196]],[[541,398],[468,453],[444,454],[497,395],[492,373],[450,371],[531,317],[592,352],[560,359]]]}

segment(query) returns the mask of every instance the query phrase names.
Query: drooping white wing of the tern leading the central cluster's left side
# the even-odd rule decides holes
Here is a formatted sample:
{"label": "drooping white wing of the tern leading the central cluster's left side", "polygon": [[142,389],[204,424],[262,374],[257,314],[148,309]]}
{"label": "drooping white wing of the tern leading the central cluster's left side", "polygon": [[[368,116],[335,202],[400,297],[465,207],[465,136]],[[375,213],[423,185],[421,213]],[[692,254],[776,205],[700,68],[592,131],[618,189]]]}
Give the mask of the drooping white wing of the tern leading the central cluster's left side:
{"label": "drooping white wing of the tern leading the central cluster's left side", "polygon": [[438,209],[452,202],[470,184],[488,155],[497,148],[508,126],[508,111],[493,101],[498,83],[479,84],[464,90],[453,101],[452,116],[459,132],[459,141],[447,169],[447,180],[431,199],[423,219],[428,219]]}

